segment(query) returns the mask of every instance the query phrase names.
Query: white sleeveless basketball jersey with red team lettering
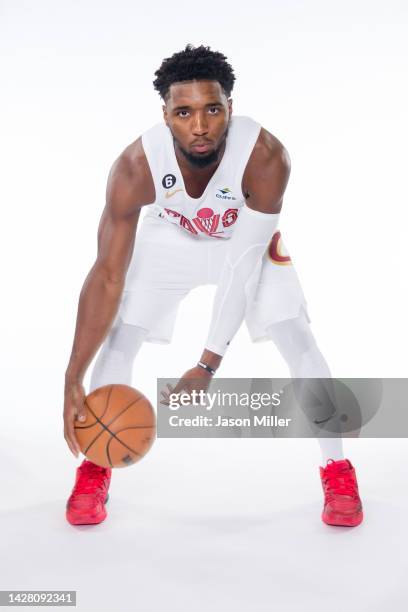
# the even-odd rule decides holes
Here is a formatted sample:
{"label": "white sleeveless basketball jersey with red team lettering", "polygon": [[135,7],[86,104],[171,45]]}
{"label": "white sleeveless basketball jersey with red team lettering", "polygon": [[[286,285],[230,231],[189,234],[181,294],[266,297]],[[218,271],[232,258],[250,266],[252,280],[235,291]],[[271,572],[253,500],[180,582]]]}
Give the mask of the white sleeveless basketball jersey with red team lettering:
{"label": "white sleeveless basketball jersey with red team lettering", "polygon": [[156,199],[146,216],[175,223],[197,238],[229,238],[245,203],[242,176],[261,126],[249,117],[232,116],[221,162],[200,198],[188,195],[165,123],[142,135]]}

